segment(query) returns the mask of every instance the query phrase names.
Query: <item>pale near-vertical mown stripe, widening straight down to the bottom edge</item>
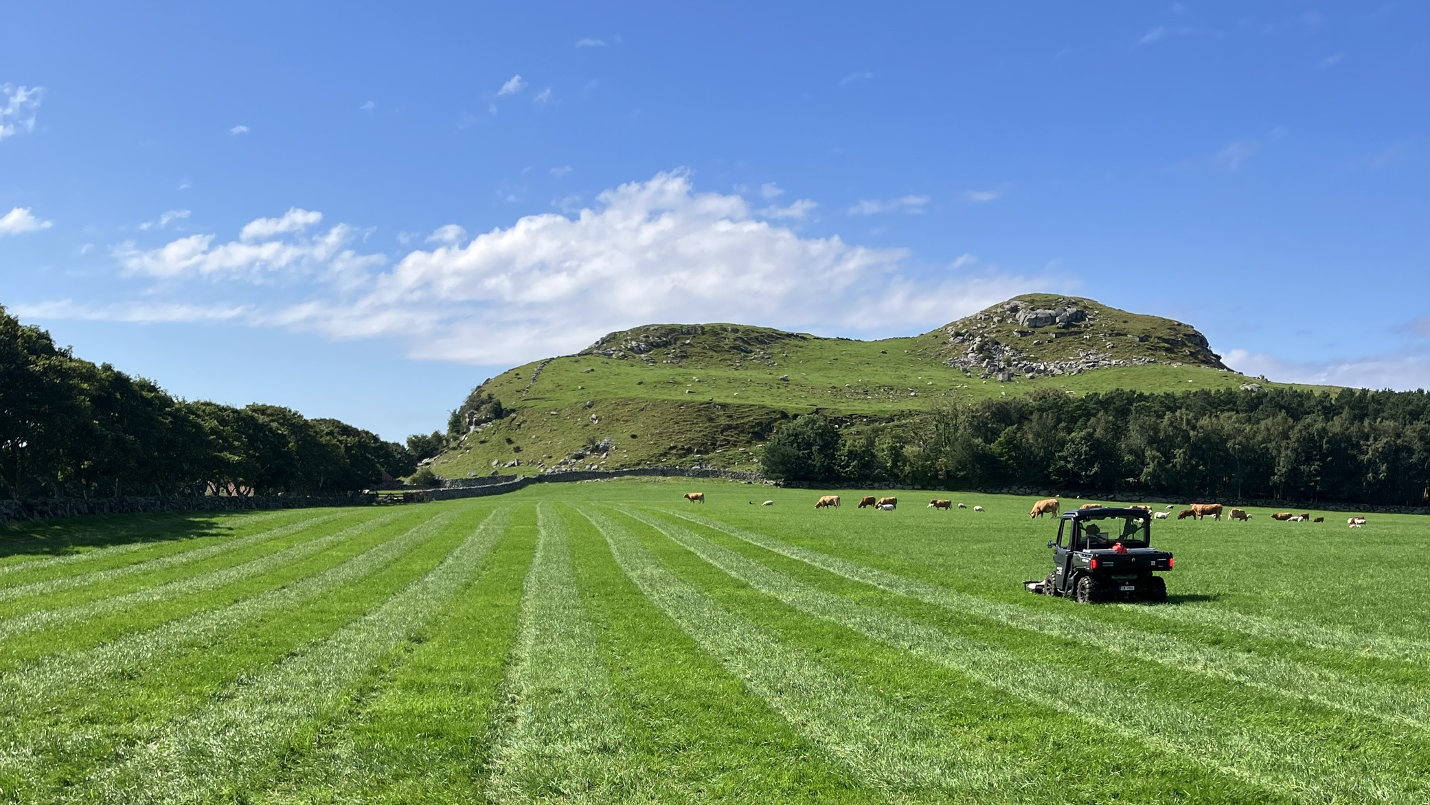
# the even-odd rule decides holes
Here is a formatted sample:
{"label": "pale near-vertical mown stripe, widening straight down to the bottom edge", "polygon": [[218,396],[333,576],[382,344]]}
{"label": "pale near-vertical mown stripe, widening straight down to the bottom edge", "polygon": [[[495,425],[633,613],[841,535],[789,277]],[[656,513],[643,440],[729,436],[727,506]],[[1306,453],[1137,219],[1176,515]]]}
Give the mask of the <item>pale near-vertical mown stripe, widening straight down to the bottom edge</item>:
{"label": "pale near-vertical mown stripe, widening straight down to the bottom edge", "polygon": [[576,593],[566,525],[538,512],[521,631],[500,691],[486,795],[495,802],[608,802],[631,782],[628,735],[591,616]]}

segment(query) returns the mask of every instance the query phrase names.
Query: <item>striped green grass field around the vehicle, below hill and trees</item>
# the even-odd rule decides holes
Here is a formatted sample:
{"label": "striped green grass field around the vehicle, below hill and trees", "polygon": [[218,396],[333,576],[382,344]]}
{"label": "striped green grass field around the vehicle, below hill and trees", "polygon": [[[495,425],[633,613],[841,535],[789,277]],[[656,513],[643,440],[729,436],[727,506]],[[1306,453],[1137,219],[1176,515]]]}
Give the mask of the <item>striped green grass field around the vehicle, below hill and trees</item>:
{"label": "striped green grass field around the vehicle, below hill and trees", "polygon": [[1424,518],[1158,520],[1171,602],[1080,606],[1031,499],[818,495],[0,530],[0,801],[1430,802]]}

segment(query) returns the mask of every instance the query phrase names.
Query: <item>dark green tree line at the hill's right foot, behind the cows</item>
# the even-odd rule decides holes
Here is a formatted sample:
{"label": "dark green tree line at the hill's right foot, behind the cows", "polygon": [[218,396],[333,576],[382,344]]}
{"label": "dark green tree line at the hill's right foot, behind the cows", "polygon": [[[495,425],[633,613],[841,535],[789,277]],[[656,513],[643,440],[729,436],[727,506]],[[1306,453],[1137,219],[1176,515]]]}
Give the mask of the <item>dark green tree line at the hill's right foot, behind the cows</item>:
{"label": "dark green tree line at the hill's right foot, behind the cows", "polygon": [[772,479],[1430,505],[1430,395],[1107,392],[981,400],[872,426],[805,415]]}

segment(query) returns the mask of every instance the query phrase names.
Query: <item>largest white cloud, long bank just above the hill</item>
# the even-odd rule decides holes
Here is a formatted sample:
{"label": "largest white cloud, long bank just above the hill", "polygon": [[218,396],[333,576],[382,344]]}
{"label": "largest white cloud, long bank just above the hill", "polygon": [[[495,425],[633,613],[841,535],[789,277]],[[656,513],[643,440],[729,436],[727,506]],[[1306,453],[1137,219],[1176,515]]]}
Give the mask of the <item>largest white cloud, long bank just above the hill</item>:
{"label": "largest white cloud, long bank just above the hill", "polygon": [[569,214],[525,216],[469,240],[455,224],[440,227],[432,247],[390,267],[380,255],[353,252],[359,230],[352,226],[305,234],[316,213],[295,209],[259,220],[260,227],[245,229],[273,237],[216,243],[213,234],[194,234],[157,249],[124,243],[113,250],[124,275],[157,282],[130,302],[51,313],[232,317],[332,339],[400,339],[413,356],[432,360],[519,363],[649,322],[908,333],[1061,285],[992,266],[919,275],[904,249],[801,237],[741,196],[696,192],[681,170],[606,190]]}

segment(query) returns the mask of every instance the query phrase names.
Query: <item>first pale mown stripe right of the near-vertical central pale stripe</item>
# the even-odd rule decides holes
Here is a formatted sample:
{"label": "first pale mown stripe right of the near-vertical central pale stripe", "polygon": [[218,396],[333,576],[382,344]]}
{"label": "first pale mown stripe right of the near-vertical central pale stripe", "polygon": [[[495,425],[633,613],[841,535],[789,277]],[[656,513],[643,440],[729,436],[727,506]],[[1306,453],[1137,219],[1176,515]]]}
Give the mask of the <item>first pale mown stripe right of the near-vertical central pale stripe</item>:
{"label": "first pale mown stripe right of the near-vertical central pale stripe", "polygon": [[782,643],[678,578],[615,520],[581,510],[656,608],[862,784],[899,799],[945,801],[1030,782],[1028,769],[1011,758],[951,746],[951,736],[918,709],[862,688]]}

